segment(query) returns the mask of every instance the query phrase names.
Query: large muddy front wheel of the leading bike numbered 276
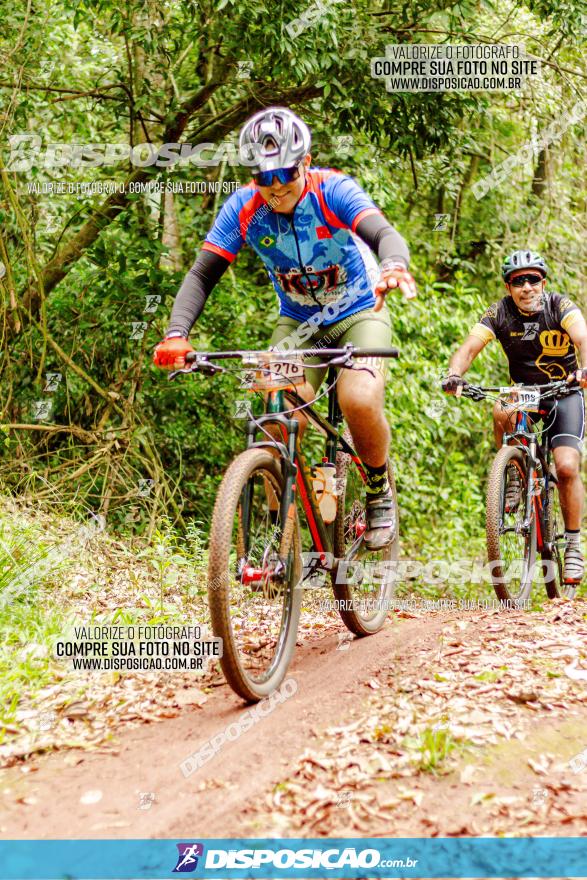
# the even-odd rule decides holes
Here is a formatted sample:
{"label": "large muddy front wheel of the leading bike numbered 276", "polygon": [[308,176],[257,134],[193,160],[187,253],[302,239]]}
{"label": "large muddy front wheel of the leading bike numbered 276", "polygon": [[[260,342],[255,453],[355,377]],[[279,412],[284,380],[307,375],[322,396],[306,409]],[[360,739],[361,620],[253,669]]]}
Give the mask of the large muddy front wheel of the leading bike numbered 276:
{"label": "large muddy front wheel of the leading bike numbered 276", "polygon": [[282,490],[274,456],[264,449],[245,450],[226,471],[212,516],[212,629],[223,641],[220,665],[226,680],[249,701],[279,687],[296,643],[301,544],[295,504],[285,529],[279,522]]}

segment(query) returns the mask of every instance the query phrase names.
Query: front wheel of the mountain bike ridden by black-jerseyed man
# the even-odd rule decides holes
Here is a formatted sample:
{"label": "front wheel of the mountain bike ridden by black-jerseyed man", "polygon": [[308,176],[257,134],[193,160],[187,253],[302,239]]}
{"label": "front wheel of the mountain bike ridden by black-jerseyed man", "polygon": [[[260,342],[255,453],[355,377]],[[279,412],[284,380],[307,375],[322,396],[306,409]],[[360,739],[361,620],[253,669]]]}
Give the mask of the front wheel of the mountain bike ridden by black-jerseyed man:
{"label": "front wheel of the mountain bike ridden by black-jerseyed man", "polygon": [[536,559],[536,514],[528,497],[527,458],[516,446],[503,446],[493,461],[487,486],[487,556],[497,598],[512,605],[532,591]]}

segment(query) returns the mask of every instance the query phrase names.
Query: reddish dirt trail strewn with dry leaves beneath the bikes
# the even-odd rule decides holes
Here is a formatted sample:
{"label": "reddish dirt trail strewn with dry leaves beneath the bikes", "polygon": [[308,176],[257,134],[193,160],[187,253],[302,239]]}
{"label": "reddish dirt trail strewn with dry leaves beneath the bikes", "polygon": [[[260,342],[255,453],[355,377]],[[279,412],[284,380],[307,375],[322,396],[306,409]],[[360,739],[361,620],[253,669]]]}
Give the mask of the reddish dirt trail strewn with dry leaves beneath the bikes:
{"label": "reddish dirt trail strewn with dry leaves beneath the bikes", "polygon": [[298,647],[296,693],[188,778],[246,710],[226,686],[98,752],[4,771],[0,836],[584,834],[587,752],[584,772],[569,761],[587,682],[564,670],[581,670],[586,610],[400,616],[342,650],[330,630]]}

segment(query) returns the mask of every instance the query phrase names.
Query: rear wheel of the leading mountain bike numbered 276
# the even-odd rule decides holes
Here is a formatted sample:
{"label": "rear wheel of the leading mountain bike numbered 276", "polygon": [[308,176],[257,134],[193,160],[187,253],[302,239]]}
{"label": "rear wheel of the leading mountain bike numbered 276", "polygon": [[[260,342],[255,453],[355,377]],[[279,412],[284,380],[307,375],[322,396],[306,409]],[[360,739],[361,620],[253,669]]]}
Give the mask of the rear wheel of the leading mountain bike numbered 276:
{"label": "rear wheel of the leading mountain bike numbered 276", "polygon": [[395,504],[395,532],[387,547],[365,547],[365,484],[350,455],[336,457],[338,510],[334,522],[334,555],[340,559],[332,572],[334,596],[345,626],[355,635],[378,632],[389,613],[399,554],[399,512],[391,462],[387,475]]}

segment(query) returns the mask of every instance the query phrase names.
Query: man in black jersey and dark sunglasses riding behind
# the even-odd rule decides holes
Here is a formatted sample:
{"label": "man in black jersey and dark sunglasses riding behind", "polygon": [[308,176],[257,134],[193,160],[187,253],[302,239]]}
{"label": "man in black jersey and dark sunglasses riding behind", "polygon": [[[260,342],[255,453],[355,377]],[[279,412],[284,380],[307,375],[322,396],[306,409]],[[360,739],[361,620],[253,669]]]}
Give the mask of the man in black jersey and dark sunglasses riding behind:
{"label": "man in black jersey and dark sunglasses riding behind", "polygon": [[[561,508],[565,521],[565,572],[567,583],[580,583],[584,562],[580,544],[584,488],[580,475],[585,433],[583,388],[587,387],[587,324],[577,305],[566,296],[546,290],[548,269],[542,257],[531,250],[515,251],[503,264],[506,296],[489,306],[469,336],[452,356],[449,375],[442,387],[458,393],[463,375],[479,352],[498,339],[509,362],[511,380],[525,385],[549,381],[577,381],[580,388],[554,404],[543,401],[558,477]],[[505,431],[513,430],[515,410],[496,404],[494,435],[498,447]],[[506,510],[520,503],[520,485],[511,481]]]}

